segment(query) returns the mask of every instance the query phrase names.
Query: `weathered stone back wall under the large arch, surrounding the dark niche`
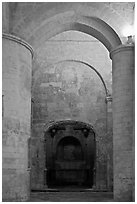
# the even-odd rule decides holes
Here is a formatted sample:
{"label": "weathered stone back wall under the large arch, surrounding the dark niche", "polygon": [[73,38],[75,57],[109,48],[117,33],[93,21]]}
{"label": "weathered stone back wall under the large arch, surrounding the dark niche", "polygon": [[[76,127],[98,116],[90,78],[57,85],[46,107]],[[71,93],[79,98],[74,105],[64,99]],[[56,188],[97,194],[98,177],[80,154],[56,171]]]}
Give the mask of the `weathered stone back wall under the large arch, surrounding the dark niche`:
{"label": "weathered stone back wall under the large arch, surrounding the dark niche", "polygon": [[[98,41],[78,32],[56,36],[38,50],[32,86],[32,188],[43,188],[44,127],[66,119],[93,125],[97,145],[96,185],[106,189],[111,180],[112,188],[112,124],[109,123],[107,134],[106,89],[100,77],[111,93],[111,62],[107,55]],[[112,112],[109,114],[111,119]]]}

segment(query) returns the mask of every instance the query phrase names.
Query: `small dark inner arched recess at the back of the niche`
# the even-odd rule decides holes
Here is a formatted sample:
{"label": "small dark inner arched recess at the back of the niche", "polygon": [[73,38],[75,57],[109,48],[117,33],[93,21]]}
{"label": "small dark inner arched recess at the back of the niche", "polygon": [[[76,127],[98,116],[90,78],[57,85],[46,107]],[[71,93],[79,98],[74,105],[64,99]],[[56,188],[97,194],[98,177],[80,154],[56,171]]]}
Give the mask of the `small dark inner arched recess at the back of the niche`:
{"label": "small dark inner arched recess at the back of the niche", "polygon": [[65,137],[57,145],[56,182],[63,184],[82,184],[85,180],[84,155],[78,139]]}

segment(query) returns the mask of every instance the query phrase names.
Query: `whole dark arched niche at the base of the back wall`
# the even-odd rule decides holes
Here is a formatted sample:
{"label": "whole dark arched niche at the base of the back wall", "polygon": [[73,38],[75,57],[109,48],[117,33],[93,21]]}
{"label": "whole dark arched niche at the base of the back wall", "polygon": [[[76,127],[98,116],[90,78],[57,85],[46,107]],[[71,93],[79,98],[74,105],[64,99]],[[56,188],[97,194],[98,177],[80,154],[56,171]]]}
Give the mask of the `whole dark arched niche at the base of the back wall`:
{"label": "whole dark arched niche at the base of the back wall", "polygon": [[91,126],[62,121],[52,125],[45,137],[48,187],[93,187],[96,142]]}

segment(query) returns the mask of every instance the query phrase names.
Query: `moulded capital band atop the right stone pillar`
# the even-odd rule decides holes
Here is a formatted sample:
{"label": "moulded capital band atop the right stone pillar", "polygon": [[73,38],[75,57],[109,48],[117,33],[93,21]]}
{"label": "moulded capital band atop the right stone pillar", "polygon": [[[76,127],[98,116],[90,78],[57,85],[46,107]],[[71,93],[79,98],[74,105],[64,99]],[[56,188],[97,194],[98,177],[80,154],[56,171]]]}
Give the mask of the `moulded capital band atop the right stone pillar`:
{"label": "moulded capital band atop the right stone pillar", "polygon": [[118,47],[110,51],[110,55],[109,55],[110,59],[112,59],[113,55],[118,52],[129,51],[129,50],[134,50],[134,49],[135,49],[134,44],[119,45]]}

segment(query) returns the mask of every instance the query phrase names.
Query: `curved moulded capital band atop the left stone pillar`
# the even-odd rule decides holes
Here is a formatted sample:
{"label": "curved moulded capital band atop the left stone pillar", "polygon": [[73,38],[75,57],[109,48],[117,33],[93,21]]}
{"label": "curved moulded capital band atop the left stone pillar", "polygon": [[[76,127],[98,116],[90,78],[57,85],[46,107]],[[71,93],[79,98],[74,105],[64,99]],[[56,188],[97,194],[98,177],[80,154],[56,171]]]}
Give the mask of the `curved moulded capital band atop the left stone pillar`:
{"label": "curved moulded capital band atop the left stone pillar", "polygon": [[14,41],[16,43],[19,43],[19,44],[23,45],[24,47],[26,47],[31,52],[31,55],[32,55],[32,58],[33,58],[34,50],[31,47],[31,45],[29,45],[25,40],[15,36],[15,35],[7,34],[7,33],[2,33],[2,38],[8,39],[8,40],[11,40],[11,41]]}

